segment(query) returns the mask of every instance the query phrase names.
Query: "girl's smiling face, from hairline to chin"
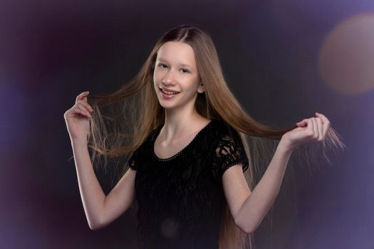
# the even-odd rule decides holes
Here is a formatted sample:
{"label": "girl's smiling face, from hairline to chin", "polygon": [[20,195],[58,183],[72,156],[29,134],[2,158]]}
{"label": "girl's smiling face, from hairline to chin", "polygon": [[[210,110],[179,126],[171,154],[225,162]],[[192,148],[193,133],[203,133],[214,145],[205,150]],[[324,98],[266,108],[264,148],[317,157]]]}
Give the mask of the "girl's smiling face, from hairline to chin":
{"label": "girl's smiling face, from hairline to chin", "polygon": [[[204,92],[204,88],[200,84],[192,47],[175,41],[162,44],[157,53],[153,83],[162,107],[172,108],[187,103],[194,106],[197,94]],[[178,93],[165,93],[167,90]]]}

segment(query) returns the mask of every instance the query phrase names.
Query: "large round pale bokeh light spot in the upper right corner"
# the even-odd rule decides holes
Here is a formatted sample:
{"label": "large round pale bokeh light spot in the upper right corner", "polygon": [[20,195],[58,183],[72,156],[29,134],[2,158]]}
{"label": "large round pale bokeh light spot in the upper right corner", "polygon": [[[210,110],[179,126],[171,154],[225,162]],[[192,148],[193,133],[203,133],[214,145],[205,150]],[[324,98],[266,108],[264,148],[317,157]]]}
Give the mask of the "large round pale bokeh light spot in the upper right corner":
{"label": "large round pale bokeh light spot in the upper right corner", "polygon": [[319,51],[323,81],[345,95],[374,87],[374,14],[359,14],[328,33]]}

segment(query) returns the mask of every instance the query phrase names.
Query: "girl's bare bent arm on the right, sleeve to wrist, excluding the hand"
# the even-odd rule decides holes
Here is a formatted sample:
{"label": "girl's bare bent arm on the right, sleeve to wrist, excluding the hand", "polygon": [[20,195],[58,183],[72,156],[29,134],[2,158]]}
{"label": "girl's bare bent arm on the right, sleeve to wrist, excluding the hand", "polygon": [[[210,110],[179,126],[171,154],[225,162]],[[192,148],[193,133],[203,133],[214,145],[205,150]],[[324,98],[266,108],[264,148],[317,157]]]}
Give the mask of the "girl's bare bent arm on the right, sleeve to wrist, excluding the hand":
{"label": "girl's bare bent arm on the right, sleeve to wrist, excluding the hand", "polygon": [[241,164],[232,166],[222,176],[227,203],[235,223],[245,233],[253,233],[279,193],[292,150],[282,142],[253,192],[246,184]]}

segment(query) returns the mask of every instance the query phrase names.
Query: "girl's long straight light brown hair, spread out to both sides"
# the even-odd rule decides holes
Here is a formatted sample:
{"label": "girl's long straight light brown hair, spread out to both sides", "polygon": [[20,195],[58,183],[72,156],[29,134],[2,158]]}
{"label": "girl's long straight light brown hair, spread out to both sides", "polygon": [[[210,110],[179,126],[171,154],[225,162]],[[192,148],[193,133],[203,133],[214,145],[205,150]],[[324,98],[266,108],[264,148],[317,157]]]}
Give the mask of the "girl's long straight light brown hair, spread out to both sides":
{"label": "girl's long straight light brown hair, spread out to both sides", "polygon": [[[249,170],[244,172],[249,189],[254,189],[261,172],[266,169],[274,146],[282,135],[296,128],[276,129],[256,122],[237,101],[224,79],[216,48],[212,38],[201,28],[182,25],[163,34],[155,44],[145,63],[134,78],[113,93],[88,97],[93,107],[90,119],[88,147],[92,149],[93,165],[107,168],[108,160],[114,159],[123,166],[118,174],[128,170],[128,159],[137,147],[145,142],[148,134],[165,122],[165,110],[160,105],[153,86],[153,72],[157,51],[167,41],[179,41],[193,48],[199,74],[205,91],[199,93],[195,108],[200,115],[210,120],[224,120],[239,132]],[[329,128],[323,148],[343,148],[344,144],[332,127]],[[308,160],[316,157],[316,147],[310,145],[301,154]],[[102,161],[103,159],[103,161]],[[119,163],[120,160],[124,160]],[[97,162],[97,163],[96,163]],[[103,162],[103,163],[102,163]],[[222,216],[219,248],[252,248],[252,235],[241,231],[234,223],[227,203]]]}

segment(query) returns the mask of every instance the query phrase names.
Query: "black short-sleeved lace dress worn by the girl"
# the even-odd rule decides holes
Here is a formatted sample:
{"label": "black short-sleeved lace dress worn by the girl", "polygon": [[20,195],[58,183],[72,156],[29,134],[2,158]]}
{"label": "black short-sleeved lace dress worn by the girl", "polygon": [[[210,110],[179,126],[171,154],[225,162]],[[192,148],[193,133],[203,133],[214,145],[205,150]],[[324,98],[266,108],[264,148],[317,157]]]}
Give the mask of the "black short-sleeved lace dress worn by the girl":
{"label": "black short-sleeved lace dress worn by the girl", "polygon": [[129,159],[135,176],[138,248],[218,248],[226,202],[222,174],[248,160],[237,131],[212,120],[180,152],[160,159],[157,127]]}

